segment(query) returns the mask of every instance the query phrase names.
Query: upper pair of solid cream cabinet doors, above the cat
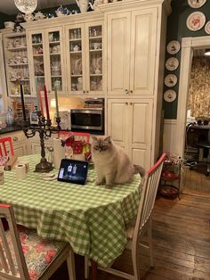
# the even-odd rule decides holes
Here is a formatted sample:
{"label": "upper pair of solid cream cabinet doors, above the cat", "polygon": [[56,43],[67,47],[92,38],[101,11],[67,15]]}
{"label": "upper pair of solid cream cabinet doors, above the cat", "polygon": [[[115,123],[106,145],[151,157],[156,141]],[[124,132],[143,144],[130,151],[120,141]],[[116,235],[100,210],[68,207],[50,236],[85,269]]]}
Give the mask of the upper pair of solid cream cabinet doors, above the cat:
{"label": "upper pair of solid cream cabinet doors, above the cat", "polygon": [[108,95],[153,95],[158,8],[108,14]]}

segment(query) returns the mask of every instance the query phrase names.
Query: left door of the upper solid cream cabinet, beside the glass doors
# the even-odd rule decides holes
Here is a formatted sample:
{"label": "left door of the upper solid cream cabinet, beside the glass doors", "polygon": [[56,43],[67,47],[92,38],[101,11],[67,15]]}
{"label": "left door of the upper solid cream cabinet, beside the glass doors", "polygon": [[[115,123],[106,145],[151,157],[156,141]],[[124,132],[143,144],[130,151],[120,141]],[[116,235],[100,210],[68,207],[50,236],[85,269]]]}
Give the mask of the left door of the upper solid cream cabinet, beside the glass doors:
{"label": "left door of the upper solid cream cabinet, beside the glass doors", "polygon": [[125,95],[129,93],[130,27],[131,12],[108,15],[108,95]]}

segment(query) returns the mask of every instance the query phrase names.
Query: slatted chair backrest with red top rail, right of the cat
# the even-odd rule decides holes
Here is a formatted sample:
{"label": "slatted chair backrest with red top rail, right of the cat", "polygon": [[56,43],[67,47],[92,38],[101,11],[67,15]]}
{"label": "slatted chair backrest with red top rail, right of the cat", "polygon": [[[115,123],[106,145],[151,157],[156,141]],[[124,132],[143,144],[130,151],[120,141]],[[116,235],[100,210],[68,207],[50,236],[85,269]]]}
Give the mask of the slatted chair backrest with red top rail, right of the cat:
{"label": "slatted chair backrest with red top rail, right of the cat", "polygon": [[160,159],[155,163],[155,165],[146,172],[146,175],[144,177],[141,200],[133,232],[133,239],[138,238],[138,235],[141,233],[143,226],[145,226],[147,222],[149,222],[149,218],[154,207],[158,191],[158,184],[165,158],[166,153],[163,153]]}

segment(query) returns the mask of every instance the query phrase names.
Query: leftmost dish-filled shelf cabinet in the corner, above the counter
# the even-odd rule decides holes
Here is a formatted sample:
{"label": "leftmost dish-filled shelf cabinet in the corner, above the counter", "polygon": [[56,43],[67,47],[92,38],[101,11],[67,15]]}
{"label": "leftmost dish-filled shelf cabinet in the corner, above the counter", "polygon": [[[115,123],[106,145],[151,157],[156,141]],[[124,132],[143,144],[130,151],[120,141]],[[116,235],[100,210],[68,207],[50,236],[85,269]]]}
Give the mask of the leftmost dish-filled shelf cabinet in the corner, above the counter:
{"label": "leftmost dish-filled shelf cabinet in the corner, above the counter", "polygon": [[20,96],[20,84],[22,84],[24,96],[31,96],[26,34],[5,33],[3,42],[8,95]]}

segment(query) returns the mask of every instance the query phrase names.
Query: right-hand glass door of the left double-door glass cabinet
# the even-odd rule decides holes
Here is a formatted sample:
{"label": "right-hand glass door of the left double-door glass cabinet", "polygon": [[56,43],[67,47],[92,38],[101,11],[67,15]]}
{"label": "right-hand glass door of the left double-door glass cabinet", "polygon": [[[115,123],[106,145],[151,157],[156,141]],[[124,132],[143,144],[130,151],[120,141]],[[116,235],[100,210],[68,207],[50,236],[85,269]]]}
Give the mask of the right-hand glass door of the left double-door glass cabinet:
{"label": "right-hand glass door of the left double-door glass cabinet", "polygon": [[62,28],[52,28],[45,30],[46,59],[47,59],[47,84],[49,92],[57,88],[58,94],[66,92],[65,71],[64,71],[64,50]]}

